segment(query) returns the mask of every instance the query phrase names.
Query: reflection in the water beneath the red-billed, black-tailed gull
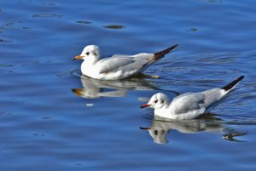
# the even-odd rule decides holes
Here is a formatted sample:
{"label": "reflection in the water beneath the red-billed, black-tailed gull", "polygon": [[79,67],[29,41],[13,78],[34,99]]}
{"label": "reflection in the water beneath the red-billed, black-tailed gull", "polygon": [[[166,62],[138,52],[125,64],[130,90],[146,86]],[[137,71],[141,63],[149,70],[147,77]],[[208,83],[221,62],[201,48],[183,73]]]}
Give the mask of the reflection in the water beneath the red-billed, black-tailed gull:
{"label": "reflection in the water beneath the red-billed, black-tailed gull", "polygon": [[224,122],[213,114],[189,120],[170,120],[163,117],[154,117],[150,127],[141,127],[141,129],[148,130],[148,133],[156,144],[168,143],[167,135],[172,130],[177,130],[179,133],[183,134],[195,134],[199,132],[218,133],[224,134],[224,140],[246,142],[236,140],[235,138],[246,133],[239,133],[233,128],[226,128]]}

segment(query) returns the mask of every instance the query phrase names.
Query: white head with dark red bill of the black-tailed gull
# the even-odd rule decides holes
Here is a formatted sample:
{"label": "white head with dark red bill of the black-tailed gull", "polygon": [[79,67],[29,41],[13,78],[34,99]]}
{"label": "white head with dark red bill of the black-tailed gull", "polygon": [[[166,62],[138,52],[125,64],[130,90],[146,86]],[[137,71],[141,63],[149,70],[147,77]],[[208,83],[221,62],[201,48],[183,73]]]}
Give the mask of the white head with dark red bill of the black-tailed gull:
{"label": "white head with dark red bill of the black-tailed gull", "polygon": [[160,109],[165,105],[168,105],[169,99],[166,94],[158,93],[154,94],[148,101],[148,104],[142,105],[141,108],[151,107],[153,109]]}

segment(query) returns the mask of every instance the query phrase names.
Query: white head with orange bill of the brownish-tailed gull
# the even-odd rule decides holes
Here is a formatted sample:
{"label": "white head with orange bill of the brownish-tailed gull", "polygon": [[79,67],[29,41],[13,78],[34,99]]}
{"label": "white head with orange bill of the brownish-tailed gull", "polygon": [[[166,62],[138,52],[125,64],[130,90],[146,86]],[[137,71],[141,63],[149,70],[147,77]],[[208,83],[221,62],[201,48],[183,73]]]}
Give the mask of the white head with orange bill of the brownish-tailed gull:
{"label": "white head with orange bill of the brownish-tailed gull", "polygon": [[73,60],[99,60],[101,58],[100,48],[96,45],[88,45],[84,48],[83,52],[75,56]]}

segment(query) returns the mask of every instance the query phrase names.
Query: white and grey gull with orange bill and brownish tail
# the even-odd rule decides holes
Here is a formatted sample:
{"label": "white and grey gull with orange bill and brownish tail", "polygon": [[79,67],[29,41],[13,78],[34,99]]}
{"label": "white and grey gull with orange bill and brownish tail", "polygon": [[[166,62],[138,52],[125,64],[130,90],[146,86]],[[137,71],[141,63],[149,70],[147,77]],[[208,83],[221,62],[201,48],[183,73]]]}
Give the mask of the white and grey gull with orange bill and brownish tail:
{"label": "white and grey gull with orange bill and brownish tail", "polygon": [[114,54],[112,57],[103,59],[100,48],[96,45],[89,45],[84,48],[82,54],[75,56],[73,60],[84,60],[81,71],[87,77],[100,80],[119,80],[143,72],[155,61],[170,53],[177,45],[154,54]]}

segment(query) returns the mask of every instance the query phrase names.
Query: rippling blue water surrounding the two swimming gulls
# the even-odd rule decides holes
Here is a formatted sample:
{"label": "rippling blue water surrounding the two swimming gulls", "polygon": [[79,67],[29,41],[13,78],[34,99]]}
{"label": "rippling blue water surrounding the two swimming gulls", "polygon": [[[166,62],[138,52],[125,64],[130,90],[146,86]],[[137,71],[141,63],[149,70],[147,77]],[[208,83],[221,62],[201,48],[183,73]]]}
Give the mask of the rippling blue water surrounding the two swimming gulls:
{"label": "rippling blue water surrounding the two swimming gulls", "polygon": [[[255,6],[2,0],[0,170],[255,170]],[[91,43],[103,56],[180,46],[146,71],[160,78],[109,83],[74,77],[80,61],[71,59]],[[139,110],[156,92],[174,97],[241,75],[210,116],[164,122]],[[73,94],[83,85],[84,98]]]}

